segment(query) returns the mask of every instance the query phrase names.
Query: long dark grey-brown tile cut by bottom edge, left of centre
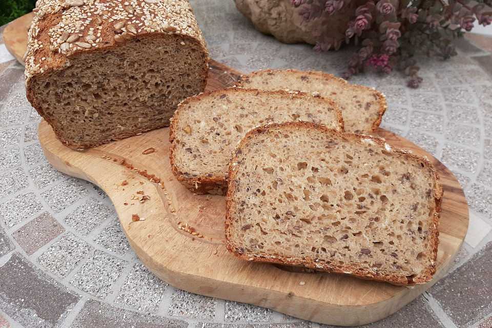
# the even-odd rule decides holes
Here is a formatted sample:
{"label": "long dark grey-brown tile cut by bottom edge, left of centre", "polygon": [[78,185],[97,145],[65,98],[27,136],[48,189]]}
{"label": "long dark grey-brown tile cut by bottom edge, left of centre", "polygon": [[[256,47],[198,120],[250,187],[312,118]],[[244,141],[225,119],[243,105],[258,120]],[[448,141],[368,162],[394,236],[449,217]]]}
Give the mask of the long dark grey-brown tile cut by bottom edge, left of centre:
{"label": "long dark grey-brown tile cut by bottom edge, left of centre", "polygon": [[188,323],[177,319],[142,315],[109,304],[88,300],[73,321],[71,328],[186,328]]}

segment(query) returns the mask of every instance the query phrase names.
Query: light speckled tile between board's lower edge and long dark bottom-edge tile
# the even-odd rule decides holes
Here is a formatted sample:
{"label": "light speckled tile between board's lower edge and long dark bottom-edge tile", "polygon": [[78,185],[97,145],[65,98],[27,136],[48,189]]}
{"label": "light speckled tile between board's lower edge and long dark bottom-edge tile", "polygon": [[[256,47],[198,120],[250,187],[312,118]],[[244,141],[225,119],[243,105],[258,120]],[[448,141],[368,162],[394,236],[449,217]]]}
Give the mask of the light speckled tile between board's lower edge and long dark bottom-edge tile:
{"label": "light speckled tile between board's lower edge and long dark bottom-edge tile", "polygon": [[115,303],[153,313],[168,284],[157,278],[144,264],[135,263],[116,297]]}

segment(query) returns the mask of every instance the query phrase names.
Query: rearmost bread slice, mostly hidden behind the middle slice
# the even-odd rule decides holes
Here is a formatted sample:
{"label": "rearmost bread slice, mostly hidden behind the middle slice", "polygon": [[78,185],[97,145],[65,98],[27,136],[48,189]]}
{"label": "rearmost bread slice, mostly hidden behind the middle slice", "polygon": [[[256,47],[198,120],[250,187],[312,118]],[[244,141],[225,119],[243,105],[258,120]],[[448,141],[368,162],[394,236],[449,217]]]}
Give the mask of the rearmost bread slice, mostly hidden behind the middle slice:
{"label": "rearmost bread slice, mostly hidden behind the middle slice", "polygon": [[376,131],[386,111],[384,96],[374,88],[348,84],[342,78],[315,71],[261,70],[243,75],[237,86],[260,90],[319,92],[342,111],[346,132]]}

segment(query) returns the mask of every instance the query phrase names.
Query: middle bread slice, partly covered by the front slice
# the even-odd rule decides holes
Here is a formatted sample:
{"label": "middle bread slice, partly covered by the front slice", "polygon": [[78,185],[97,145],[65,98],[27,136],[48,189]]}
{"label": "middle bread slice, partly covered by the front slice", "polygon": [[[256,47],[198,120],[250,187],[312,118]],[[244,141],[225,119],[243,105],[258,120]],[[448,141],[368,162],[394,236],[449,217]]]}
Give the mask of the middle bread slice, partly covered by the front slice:
{"label": "middle bread slice, partly covered by the front slice", "polygon": [[183,101],[171,120],[171,166],[191,191],[225,194],[234,147],[269,122],[313,121],[343,129],[337,105],[305,93],[229,88]]}

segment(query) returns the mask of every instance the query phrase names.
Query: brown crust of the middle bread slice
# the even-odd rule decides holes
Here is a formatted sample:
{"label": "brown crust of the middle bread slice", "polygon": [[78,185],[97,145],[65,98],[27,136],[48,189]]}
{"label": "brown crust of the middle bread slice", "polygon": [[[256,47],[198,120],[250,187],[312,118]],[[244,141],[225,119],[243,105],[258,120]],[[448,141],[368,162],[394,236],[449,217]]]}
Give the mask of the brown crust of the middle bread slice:
{"label": "brown crust of the middle bread slice", "polygon": [[[298,91],[295,92],[289,92],[284,90],[264,91],[264,90],[257,90],[257,89],[232,87],[232,88],[216,89],[210,92],[200,93],[196,96],[189,97],[181,101],[176,111],[174,112],[174,116],[171,118],[171,125],[169,129],[169,141],[171,142],[169,158],[171,160],[171,170],[174,176],[176,177],[176,179],[179,182],[181,182],[183,185],[185,185],[186,188],[188,188],[190,191],[196,194],[213,193],[217,195],[226,195],[228,178],[227,176],[217,176],[217,175],[201,176],[196,174],[186,174],[179,171],[179,169],[176,166],[176,155],[174,152],[174,149],[176,147],[174,142],[174,140],[176,139],[176,130],[175,130],[174,123],[179,120],[181,112],[184,110],[183,108],[185,105],[193,103],[194,101],[199,101],[200,99],[205,97],[219,96],[223,93],[230,93],[230,92],[241,92],[244,94],[250,93],[250,94],[256,94],[256,96],[259,94],[278,94],[278,95],[298,94],[300,96],[310,95],[309,93],[298,92]],[[316,96],[316,97],[325,100],[330,105],[330,107],[334,108],[340,130],[343,130],[342,112],[340,111],[338,106],[330,99],[326,99],[320,96]]]}

